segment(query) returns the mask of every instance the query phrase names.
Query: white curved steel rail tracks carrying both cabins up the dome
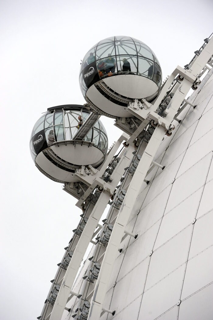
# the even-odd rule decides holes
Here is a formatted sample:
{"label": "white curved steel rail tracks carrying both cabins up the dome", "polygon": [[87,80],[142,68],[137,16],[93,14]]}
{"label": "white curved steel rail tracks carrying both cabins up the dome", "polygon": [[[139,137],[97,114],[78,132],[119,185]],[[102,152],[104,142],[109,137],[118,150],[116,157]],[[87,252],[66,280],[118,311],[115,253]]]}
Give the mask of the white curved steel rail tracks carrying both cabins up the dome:
{"label": "white curved steel rail tracks carrying both cabins up the dome", "polygon": [[[184,108],[183,102],[189,103],[185,100],[186,94],[191,87],[194,90],[198,87],[203,68],[209,70],[207,62],[213,55],[213,37],[205,39],[204,44],[185,69],[177,66],[162,86],[153,104],[145,100],[142,102],[135,100],[129,104],[128,111],[140,119],[141,123],[129,138],[123,135],[119,139],[100,171],[92,170],[91,175],[85,174],[84,170],[77,172],[78,178],[90,186],[84,196],[79,197],[77,203],[78,206],[84,204],[84,212],[78,227],[73,230],[74,234],[69,246],[65,248],[65,255],[59,264],[58,273],[52,281],[52,287],[38,319],[60,320],[64,310],[72,312],[72,317],[78,320],[99,320],[104,312],[115,314],[115,310],[104,308],[104,298],[114,261],[118,251],[121,250],[123,239],[126,236],[137,238],[137,235],[131,234],[126,229],[127,223],[135,200],[143,188],[143,181],[144,184],[148,183],[146,177],[153,165],[164,169],[163,166],[154,162],[153,158],[165,132],[167,135],[172,134],[174,120],[178,121],[177,116]],[[160,106],[166,101],[168,104],[162,113]],[[190,105],[195,107],[193,104]],[[91,121],[95,120],[91,119]],[[150,123],[152,123],[152,129],[155,129],[152,130],[148,143],[144,143],[144,134],[147,134],[147,126]],[[85,134],[86,130],[84,130],[82,130],[82,136],[79,130],[79,139],[82,139]],[[142,132],[143,135],[141,135]],[[135,151],[135,139],[139,136],[139,146]],[[123,140],[126,140],[124,145],[128,148],[123,149],[117,156],[115,153]],[[111,207],[102,226],[99,221],[108,203]],[[78,292],[74,292],[72,291],[74,280],[90,242],[95,244],[94,250],[89,257],[82,285]],[[67,302],[74,297],[76,300],[73,307],[67,308]]]}

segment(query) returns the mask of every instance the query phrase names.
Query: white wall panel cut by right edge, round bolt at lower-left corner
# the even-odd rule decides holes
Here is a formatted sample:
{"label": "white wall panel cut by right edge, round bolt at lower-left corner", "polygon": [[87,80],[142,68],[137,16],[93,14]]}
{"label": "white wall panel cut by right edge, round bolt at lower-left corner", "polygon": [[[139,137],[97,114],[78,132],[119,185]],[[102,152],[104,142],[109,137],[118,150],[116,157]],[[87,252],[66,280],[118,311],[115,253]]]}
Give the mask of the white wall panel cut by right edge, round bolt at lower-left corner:
{"label": "white wall panel cut by right edge, round bolt at lower-left corner", "polygon": [[181,300],[213,281],[213,246],[189,260]]}

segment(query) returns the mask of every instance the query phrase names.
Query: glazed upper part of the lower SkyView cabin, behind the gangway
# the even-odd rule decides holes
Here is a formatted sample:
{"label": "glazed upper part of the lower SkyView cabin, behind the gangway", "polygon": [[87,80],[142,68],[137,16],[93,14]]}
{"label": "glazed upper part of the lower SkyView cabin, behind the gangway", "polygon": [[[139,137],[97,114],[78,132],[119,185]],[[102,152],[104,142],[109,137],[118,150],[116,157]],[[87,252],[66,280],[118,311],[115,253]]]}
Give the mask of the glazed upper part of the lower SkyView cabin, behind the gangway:
{"label": "glazed upper part of the lower SkyView cabin, behind the gangway", "polygon": [[[33,128],[33,136],[29,143],[33,161],[37,154],[53,145],[54,142],[75,140],[78,130],[89,115],[89,112],[80,108],[65,108],[42,115]],[[104,156],[106,155],[108,139],[100,120],[86,134],[84,141],[94,143],[95,147],[101,149]]]}

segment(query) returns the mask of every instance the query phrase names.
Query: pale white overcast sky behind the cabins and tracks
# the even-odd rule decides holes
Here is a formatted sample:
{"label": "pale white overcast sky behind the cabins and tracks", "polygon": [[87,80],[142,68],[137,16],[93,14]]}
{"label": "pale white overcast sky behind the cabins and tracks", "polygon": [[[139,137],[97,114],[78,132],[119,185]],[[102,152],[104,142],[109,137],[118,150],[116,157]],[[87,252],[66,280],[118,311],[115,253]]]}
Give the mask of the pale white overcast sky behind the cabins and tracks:
{"label": "pale white overcast sky behind the cabins and tracks", "polygon": [[[29,137],[41,113],[84,103],[80,60],[101,39],[140,39],[155,52],[164,79],[212,33],[212,15],[212,0],[1,2],[1,319],[40,316],[81,214],[31,159]],[[111,145],[119,130],[101,120]]]}

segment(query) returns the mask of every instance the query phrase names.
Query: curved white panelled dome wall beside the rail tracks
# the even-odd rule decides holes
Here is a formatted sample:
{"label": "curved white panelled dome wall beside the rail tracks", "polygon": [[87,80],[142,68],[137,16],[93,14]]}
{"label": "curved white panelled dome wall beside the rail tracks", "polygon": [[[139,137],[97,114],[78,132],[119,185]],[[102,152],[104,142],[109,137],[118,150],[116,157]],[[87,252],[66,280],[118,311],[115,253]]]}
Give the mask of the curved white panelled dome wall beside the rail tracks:
{"label": "curved white panelled dome wall beside the rail tracks", "polygon": [[116,314],[101,320],[213,318],[212,71],[156,154],[166,167],[137,198],[127,229],[138,237],[121,243],[104,301]]}

